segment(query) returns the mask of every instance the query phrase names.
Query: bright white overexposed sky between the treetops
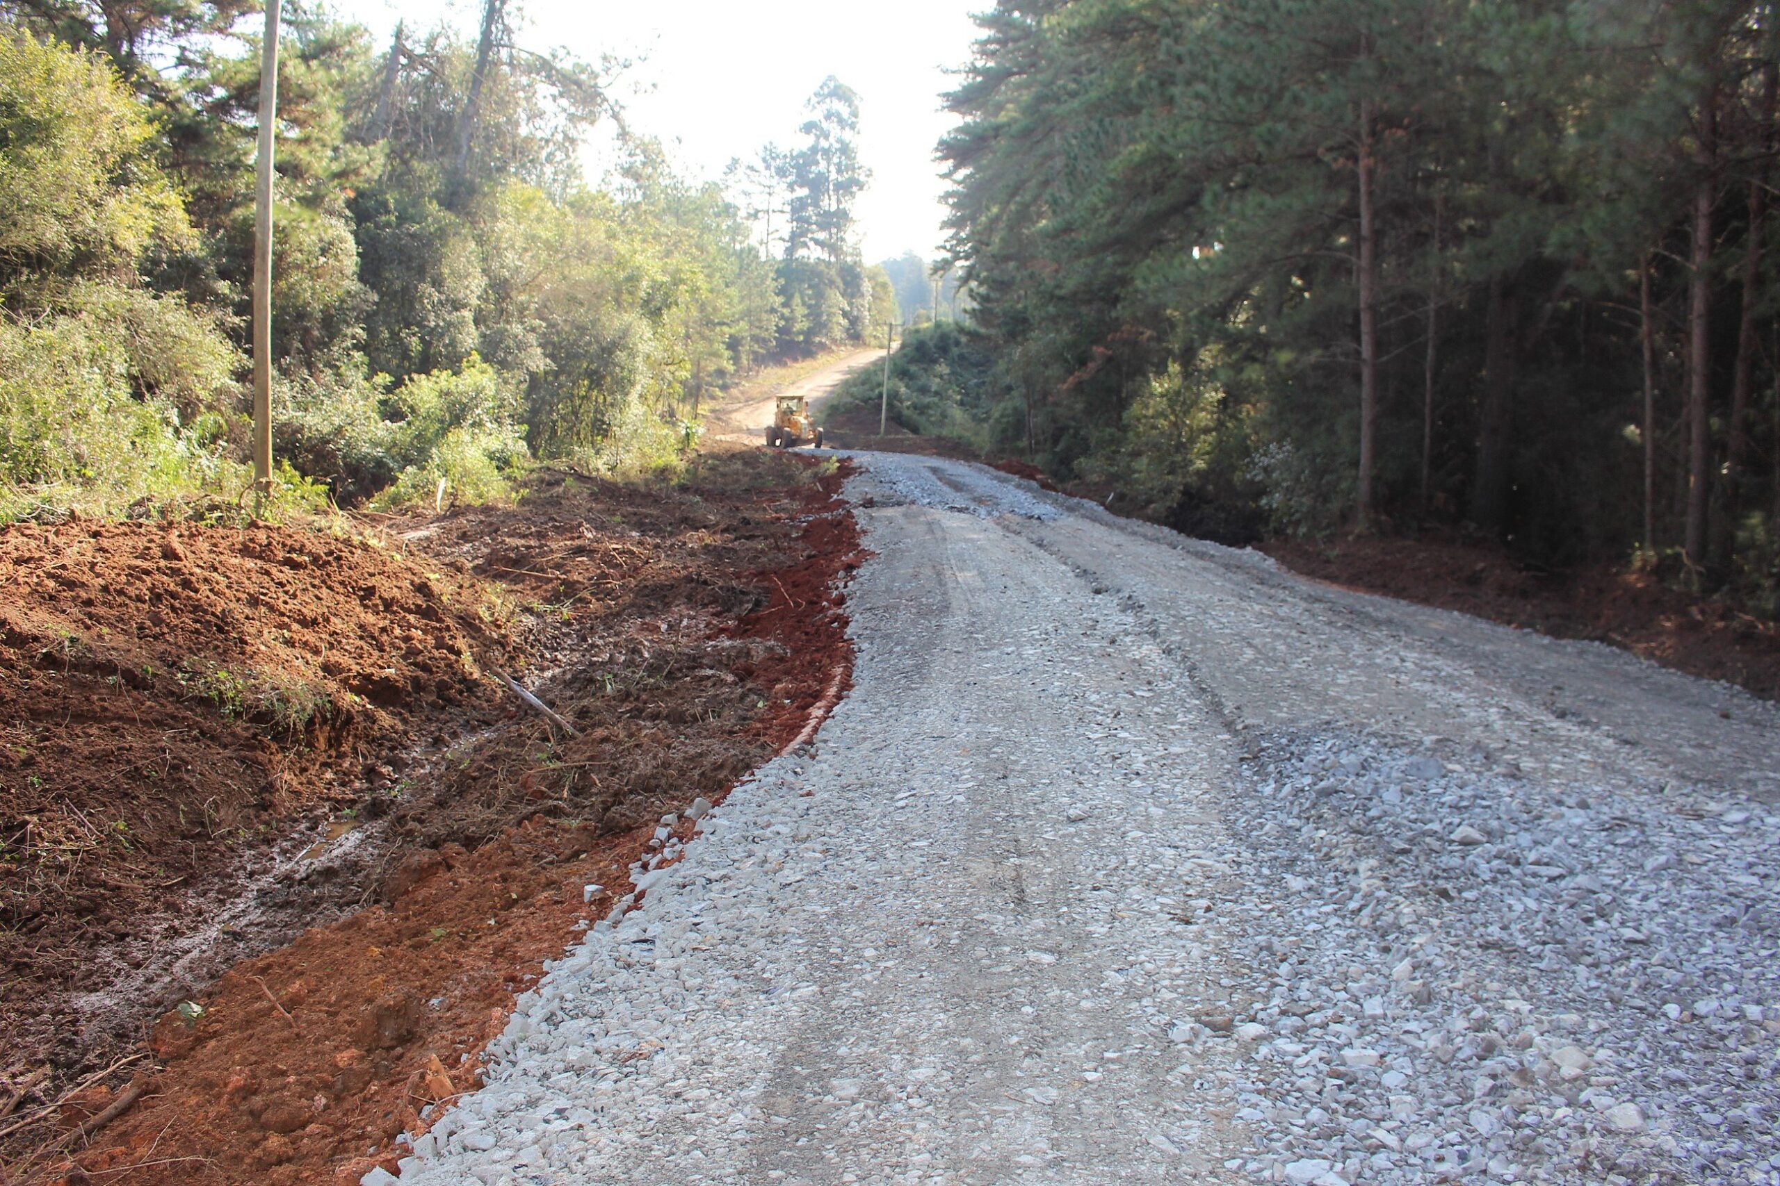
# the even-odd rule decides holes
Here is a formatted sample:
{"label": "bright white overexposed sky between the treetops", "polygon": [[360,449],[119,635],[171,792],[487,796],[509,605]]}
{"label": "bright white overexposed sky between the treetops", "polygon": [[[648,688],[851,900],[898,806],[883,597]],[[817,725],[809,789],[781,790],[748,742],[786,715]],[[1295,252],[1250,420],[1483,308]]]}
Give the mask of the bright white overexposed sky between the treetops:
{"label": "bright white overexposed sky between the treetops", "polygon": [[[406,20],[473,32],[479,0],[360,0],[344,12],[379,34]],[[527,0],[520,44],[641,59],[618,94],[637,132],[660,139],[692,174],[717,178],[767,140],[797,142],[803,103],[835,75],[860,92],[865,258],[938,254],[945,183],[933,148],[951,117],[947,69],[970,57],[970,12],[988,0]]]}

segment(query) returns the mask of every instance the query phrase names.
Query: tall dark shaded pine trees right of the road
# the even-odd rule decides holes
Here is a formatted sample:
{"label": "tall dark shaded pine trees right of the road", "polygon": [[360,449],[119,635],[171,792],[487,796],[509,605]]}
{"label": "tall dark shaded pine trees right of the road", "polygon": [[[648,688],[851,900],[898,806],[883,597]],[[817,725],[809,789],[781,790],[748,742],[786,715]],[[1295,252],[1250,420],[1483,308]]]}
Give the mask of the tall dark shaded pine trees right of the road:
{"label": "tall dark shaded pine trees right of the road", "polygon": [[1680,553],[1771,597],[1771,4],[979,21],[942,156],[999,445],[1164,507]]}

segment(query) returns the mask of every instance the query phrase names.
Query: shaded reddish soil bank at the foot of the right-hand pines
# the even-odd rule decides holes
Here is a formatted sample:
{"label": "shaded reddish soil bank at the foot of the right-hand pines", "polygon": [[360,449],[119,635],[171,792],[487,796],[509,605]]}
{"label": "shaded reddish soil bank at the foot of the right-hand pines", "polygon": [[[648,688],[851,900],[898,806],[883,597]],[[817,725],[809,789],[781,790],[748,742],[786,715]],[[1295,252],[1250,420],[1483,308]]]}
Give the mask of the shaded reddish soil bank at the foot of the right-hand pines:
{"label": "shaded reddish soil bank at the foot of the right-hand pines", "polygon": [[1780,626],[1700,601],[1650,573],[1536,573],[1502,548],[1458,539],[1273,541],[1260,549],[1323,581],[1559,638],[1607,642],[1691,676],[1780,699]]}

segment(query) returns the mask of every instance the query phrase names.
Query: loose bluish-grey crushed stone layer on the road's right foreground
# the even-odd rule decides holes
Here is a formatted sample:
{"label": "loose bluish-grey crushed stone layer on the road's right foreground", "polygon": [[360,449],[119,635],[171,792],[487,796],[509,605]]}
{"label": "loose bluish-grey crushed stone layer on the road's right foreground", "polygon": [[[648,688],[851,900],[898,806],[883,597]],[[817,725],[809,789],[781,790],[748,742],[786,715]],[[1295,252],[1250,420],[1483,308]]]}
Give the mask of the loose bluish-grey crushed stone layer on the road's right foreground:
{"label": "loose bluish-grey crushed stone layer on the road's right foreground", "polygon": [[1239,1120],[1287,1181],[1780,1181],[1780,813],[1273,734]]}

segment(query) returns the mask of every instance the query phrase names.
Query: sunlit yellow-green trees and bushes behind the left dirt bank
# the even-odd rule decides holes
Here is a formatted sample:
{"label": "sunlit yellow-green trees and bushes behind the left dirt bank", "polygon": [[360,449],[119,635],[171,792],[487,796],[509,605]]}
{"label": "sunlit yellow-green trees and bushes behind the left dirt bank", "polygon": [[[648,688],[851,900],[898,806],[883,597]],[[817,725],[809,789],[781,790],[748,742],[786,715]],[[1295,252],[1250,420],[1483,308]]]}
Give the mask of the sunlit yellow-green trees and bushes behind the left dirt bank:
{"label": "sunlit yellow-green trees and bushes behind the left dirt bank", "polygon": [[[256,9],[0,0],[0,519],[246,489]],[[390,44],[285,9],[285,498],[488,498],[532,455],[655,464],[737,373],[894,317],[856,247],[838,82],[773,151],[787,213],[762,235],[742,196],[621,130],[589,185],[616,64],[518,46],[518,0],[484,0],[473,39]]]}

